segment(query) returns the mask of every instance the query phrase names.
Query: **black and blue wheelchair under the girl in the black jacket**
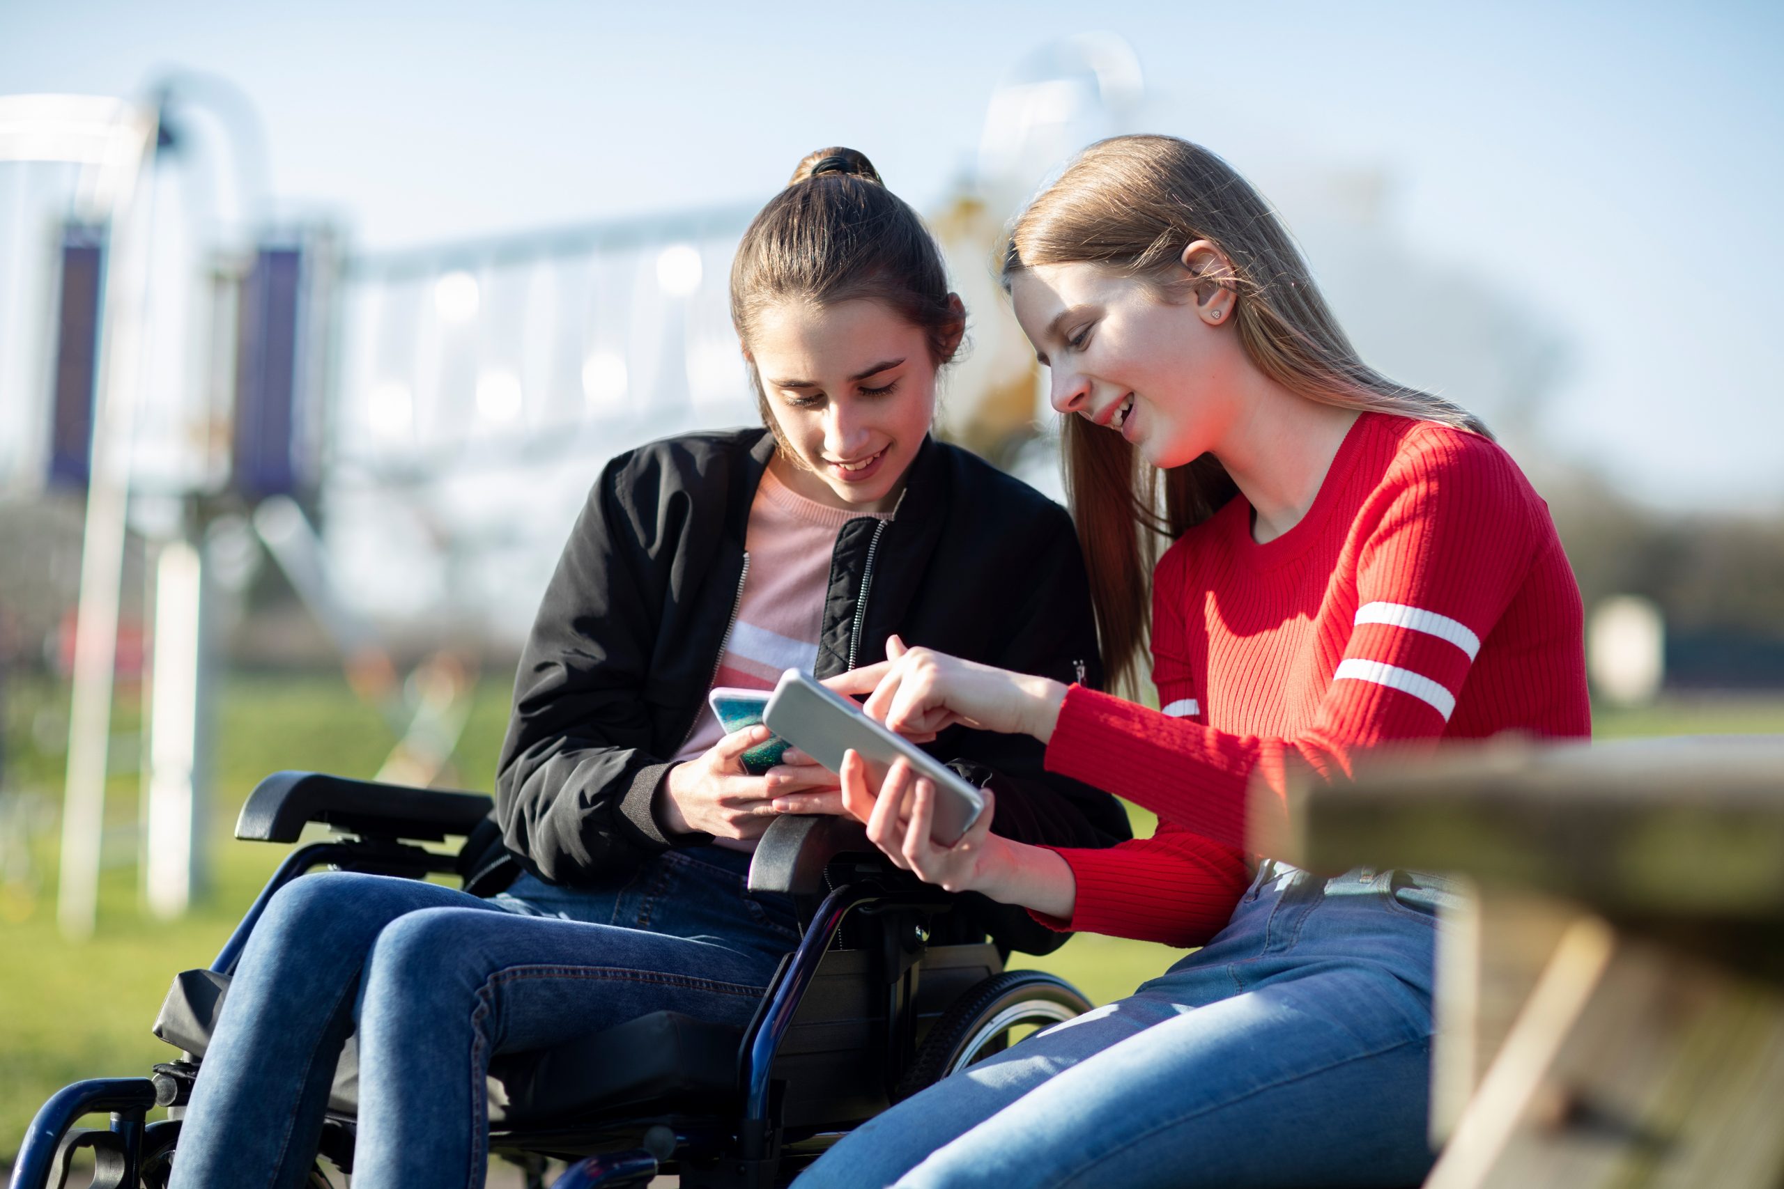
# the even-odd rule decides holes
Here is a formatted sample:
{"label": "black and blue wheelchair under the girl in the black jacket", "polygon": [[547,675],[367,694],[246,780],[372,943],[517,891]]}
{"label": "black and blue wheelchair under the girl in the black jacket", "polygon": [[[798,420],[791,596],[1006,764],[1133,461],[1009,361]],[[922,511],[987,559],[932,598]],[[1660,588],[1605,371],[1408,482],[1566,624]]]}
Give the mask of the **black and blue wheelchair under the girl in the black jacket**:
{"label": "black and blue wheelchair under the girl in the black jacket", "polygon": [[[248,797],[235,838],[296,843],[207,970],[175,977],[155,1034],[180,1050],[150,1077],[75,1082],[39,1109],[11,1189],[62,1189],[77,1152],[96,1189],[164,1189],[180,1116],[228,979],[273,893],[316,868],[409,879],[457,875],[494,895],[501,847],[489,797],[401,788],[318,772],[278,772]],[[450,838],[466,840],[444,847]],[[428,847],[426,843],[434,843]],[[783,816],[760,840],[749,891],[794,898],[803,938],[781,959],[742,1029],[658,1011],[567,1045],[501,1054],[489,1075],[489,1153],[544,1187],[642,1185],[658,1173],[689,1189],[765,1189],[890,1103],[999,1052],[1019,1029],[1090,1009],[1069,982],[1003,968],[1004,954],[954,913],[958,898],[887,863],[860,824]],[[319,1157],[353,1168],[357,1062],[335,1070]],[[168,1118],[148,1121],[166,1107]],[[78,1128],[109,1112],[107,1128]],[[330,1187],[318,1160],[309,1182]]]}

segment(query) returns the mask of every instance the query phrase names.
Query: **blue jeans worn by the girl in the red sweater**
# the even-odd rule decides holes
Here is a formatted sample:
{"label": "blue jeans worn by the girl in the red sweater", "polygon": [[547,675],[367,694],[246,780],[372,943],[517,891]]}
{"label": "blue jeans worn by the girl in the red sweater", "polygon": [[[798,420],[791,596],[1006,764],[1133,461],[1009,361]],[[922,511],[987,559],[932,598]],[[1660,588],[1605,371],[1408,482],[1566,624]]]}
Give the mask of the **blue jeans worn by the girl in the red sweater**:
{"label": "blue jeans worn by the girl in the red sweater", "polygon": [[1265,863],[1208,947],[865,1123],[797,1189],[1416,1185],[1445,895]]}

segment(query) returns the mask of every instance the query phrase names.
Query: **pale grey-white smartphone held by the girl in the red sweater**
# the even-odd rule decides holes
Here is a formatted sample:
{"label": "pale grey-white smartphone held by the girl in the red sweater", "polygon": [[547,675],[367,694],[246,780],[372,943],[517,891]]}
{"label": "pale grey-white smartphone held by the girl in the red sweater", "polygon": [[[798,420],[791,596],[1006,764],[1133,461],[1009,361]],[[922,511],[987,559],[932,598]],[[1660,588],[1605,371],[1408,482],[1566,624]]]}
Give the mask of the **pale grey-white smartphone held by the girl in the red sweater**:
{"label": "pale grey-white smartphone held by the girl in the red sweater", "polygon": [[819,685],[797,668],[781,674],[780,685],[762,711],[778,738],[789,740],[831,772],[842,770],[842,752],[851,747],[867,761],[878,784],[899,756],[935,784],[935,822],[929,838],[942,847],[960,841],[985,813],[985,795],[960,779],[953,768],[904,736],[874,722],[862,708],[835,690]]}

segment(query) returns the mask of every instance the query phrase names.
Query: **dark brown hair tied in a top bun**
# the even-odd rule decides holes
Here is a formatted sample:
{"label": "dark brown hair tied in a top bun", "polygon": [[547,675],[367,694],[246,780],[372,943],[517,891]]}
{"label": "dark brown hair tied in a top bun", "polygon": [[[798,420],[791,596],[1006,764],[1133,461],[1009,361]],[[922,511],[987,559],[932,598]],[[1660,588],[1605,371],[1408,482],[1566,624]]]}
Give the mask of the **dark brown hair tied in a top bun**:
{"label": "dark brown hair tied in a top bun", "polygon": [[[962,316],[929,228],[865,155],[821,148],[806,153],[787,189],[744,232],[731,260],[731,324],[749,349],[758,316],[772,305],[856,298],[880,301],[921,328],[937,367],[958,349]],[[780,439],[755,365],[749,381],[764,424]]]}

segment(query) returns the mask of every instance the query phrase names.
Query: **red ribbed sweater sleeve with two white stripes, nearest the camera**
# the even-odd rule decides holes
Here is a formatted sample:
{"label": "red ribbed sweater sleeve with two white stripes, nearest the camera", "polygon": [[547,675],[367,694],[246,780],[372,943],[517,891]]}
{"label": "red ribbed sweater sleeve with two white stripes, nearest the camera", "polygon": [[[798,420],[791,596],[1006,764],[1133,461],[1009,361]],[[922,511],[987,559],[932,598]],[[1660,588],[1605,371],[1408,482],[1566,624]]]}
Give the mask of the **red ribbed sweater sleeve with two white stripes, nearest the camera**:
{"label": "red ribbed sweater sleeve with two white stripes, nearest the camera", "polygon": [[[1383,743],[1443,734],[1481,642],[1493,631],[1540,544],[1534,494],[1500,451],[1449,449],[1397,467],[1358,515],[1356,613],[1311,726],[1293,738],[1235,734],[1070,688],[1047,767],[1095,781],[1204,838],[1258,845],[1256,777],[1283,815],[1290,768],[1347,775]],[[1160,594],[1186,603],[1183,586]],[[1331,642],[1340,644],[1340,642]],[[1161,690],[1163,695],[1163,690]]]}

